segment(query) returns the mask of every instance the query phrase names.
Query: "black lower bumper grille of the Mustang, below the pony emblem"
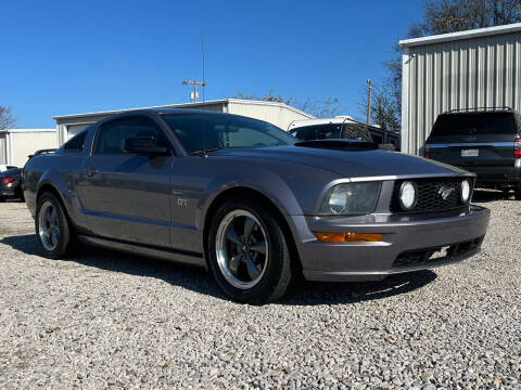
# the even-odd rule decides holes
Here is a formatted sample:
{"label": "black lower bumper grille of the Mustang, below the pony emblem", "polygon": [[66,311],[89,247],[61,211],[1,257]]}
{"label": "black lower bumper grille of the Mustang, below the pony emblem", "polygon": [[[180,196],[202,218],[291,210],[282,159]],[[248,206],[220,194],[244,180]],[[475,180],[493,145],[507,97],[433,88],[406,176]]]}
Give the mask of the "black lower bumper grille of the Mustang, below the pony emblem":
{"label": "black lower bumper grille of the Mustang, below the pony emblem", "polygon": [[393,269],[412,268],[418,265],[432,264],[434,262],[450,262],[460,256],[468,255],[478,249],[483,242],[484,236],[447,245],[444,247],[434,247],[420,250],[409,250],[398,255],[393,263]]}

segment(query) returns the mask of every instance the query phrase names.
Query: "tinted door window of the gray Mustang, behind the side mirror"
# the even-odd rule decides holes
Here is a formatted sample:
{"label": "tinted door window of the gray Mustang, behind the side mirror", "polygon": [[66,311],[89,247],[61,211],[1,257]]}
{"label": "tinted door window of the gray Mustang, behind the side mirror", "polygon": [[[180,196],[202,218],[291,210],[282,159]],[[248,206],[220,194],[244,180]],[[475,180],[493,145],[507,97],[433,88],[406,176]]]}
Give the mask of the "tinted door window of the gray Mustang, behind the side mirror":
{"label": "tinted door window of the gray Mustang, behind the side mirror", "polygon": [[163,131],[148,117],[117,119],[104,123],[98,131],[94,154],[122,155],[126,139],[153,138],[158,146],[168,146]]}

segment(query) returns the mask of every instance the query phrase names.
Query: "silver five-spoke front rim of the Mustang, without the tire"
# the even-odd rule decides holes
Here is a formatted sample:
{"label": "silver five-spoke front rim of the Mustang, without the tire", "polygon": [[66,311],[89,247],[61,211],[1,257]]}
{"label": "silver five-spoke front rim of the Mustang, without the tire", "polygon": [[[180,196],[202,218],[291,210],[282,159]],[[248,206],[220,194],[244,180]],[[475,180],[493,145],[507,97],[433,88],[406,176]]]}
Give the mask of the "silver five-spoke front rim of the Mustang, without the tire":
{"label": "silver five-spoke front rim of the Mustang, without the tire", "polygon": [[215,240],[220,272],[232,286],[247,289],[262,280],[269,260],[268,239],[254,214],[240,209],[229,212]]}

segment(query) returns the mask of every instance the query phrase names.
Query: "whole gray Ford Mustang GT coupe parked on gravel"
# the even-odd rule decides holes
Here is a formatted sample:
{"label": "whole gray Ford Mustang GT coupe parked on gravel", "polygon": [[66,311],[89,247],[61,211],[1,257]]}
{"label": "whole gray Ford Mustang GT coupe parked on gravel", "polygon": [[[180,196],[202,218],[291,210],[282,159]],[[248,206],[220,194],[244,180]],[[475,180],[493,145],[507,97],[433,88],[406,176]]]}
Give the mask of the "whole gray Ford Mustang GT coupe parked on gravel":
{"label": "whole gray Ford Mustang GT coupe parked on gravel", "polygon": [[46,152],[24,188],[46,257],[79,240],[202,265],[243,302],[466,259],[490,218],[472,173],[229,114],[128,112]]}

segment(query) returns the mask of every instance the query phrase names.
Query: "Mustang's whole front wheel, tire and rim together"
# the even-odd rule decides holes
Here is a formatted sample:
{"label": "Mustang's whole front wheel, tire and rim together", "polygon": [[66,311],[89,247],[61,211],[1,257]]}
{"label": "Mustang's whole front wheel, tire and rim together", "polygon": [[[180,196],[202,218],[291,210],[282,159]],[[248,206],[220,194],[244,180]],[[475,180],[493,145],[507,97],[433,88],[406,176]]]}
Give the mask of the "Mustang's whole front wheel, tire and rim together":
{"label": "Mustang's whole front wheel, tire and rim together", "polygon": [[230,298],[264,304],[287,292],[291,256],[270,207],[250,198],[225,203],[212,219],[206,242],[211,271]]}

